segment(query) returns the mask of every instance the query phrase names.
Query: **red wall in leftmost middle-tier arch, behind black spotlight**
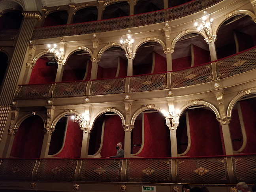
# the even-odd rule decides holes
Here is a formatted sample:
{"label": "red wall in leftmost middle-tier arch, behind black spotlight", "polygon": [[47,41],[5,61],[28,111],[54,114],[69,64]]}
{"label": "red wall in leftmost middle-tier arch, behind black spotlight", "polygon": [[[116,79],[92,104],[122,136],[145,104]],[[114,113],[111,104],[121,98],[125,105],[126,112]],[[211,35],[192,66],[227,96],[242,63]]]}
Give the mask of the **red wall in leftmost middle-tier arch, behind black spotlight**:
{"label": "red wall in leftmost middle-tier arch, behind black spotlight", "polygon": [[47,58],[39,58],[33,67],[29,84],[53,83],[57,73],[58,66],[46,66]]}

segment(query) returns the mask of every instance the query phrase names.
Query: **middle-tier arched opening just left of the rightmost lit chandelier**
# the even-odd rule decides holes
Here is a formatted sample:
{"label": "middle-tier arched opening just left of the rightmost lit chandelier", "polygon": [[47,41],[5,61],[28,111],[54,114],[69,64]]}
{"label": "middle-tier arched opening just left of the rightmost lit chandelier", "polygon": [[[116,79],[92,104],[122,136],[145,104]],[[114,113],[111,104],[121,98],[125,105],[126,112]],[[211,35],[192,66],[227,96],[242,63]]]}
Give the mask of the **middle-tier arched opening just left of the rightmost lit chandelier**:
{"label": "middle-tier arched opening just left of the rightmost lit chandelier", "polygon": [[211,61],[209,46],[203,36],[196,33],[181,37],[174,47],[172,70],[198,66]]}

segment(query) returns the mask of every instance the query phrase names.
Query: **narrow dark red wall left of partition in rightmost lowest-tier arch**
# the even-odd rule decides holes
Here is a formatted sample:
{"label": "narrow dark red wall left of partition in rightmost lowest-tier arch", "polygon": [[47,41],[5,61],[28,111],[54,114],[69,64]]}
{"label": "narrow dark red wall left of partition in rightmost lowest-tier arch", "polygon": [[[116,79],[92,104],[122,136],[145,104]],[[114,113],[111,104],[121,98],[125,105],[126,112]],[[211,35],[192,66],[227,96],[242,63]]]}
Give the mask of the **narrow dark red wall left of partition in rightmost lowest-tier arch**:
{"label": "narrow dark red wall left of partition in rightmost lowest-tier arch", "polygon": [[229,127],[232,140],[241,139],[241,141],[232,141],[233,150],[237,151],[243,145],[243,135],[237,109],[232,110],[232,120],[230,121]]}

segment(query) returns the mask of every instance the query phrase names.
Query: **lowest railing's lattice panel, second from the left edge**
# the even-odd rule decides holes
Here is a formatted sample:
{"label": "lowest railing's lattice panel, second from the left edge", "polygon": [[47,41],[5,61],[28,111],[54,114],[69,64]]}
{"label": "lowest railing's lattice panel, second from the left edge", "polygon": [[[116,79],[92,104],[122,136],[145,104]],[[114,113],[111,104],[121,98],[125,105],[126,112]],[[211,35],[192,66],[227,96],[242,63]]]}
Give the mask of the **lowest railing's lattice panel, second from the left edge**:
{"label": "lowest railing's lattice panel, second from the left edge", "polygon": [[77,160],[42,159],[37,171],[40,181],[73,181]]}

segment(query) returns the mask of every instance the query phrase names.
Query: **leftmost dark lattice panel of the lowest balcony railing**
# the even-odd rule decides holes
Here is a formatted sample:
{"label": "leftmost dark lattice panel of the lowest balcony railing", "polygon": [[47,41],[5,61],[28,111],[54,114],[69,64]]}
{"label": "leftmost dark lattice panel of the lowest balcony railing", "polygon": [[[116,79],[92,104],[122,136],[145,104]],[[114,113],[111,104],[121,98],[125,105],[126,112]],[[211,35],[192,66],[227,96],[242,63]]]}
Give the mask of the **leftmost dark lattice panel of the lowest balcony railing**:
{"label": "leftmost dark lattice panel of the lowest balcony railing", "polygon": [[1,161],[0,180],[32,180],[36,160],[2,159]]}

